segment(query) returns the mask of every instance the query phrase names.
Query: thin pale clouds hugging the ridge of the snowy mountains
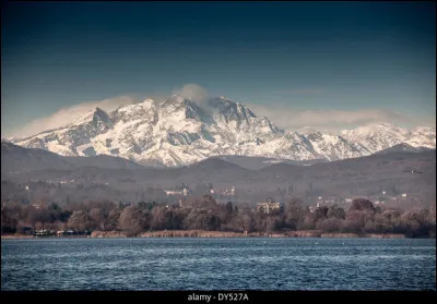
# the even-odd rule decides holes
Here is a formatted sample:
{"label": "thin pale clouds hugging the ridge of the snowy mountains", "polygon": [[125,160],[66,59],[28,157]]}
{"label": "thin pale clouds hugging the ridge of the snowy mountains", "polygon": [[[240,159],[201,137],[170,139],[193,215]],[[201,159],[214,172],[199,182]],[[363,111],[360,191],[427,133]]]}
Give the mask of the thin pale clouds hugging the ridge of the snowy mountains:
{"label": "thin pale clouds hugging the ridge of the snowy mountains", "polygon": [[[326,93],[320,88],[299,88],[291,89],[288,94],[323,94]],[[208,110],[208,99],[211,97],[208,90],[197,84],[187,84],[180,88],[176,88],[172,94],[178,94],[186,98],[190,98],[202,109]],[[74,119],[91,112],[96,107],[106,111],[111,111],[123,105],[138,104],[145,98],[151,98],[156,101],[167,99],[169,94],[160,93],[149,95],[147,97],[132,97],[132,96],[118,96],[99,101],[90,101],[79,104],[72,107],[58,110],[51,115],[46,118],[36,119],[20,130],[14,130],[4,134],[2,137],[25,137],[35,135],[43,131],[57,129],[66,125]],[[270,121],[276,124],[280,129],[285,131],[296,131],[302,127],[314,127],[318,130],[340,130],[355,127],[364,124],[376,122],[389,122],[399,126],[435,126],[436,120],[434,118],[413,118],[401,114],[393,110],[381,109],[362,109],[362,110],[295,110],[287,105],[261,106],[250,105],[247,106],[258,115],[268,117]]]}

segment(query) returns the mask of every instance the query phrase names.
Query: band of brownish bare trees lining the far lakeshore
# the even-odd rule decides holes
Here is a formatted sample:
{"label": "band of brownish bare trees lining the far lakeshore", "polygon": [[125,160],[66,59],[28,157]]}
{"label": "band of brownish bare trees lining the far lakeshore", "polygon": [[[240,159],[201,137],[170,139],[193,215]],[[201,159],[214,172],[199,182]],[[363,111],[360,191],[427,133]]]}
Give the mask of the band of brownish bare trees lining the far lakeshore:
{"label": "band of brownish bare trees lining the far lakeshore", "polygon": [[370,200],[355,199],[346,211],[339,205],[311,210],[299,199],[270,214],[252,206],[217,204],[210,195],[190,198],[182,206],[141,202],[126,206],[113,202],[57,204],[38,209],[32,205],[8,204],[1,209],[1,232],[20,233],[25,227],[78,231],[125,231],[138,235],[158,230],[209,230],[273,232],[320,230],[349,233],[403,233],[411,238],[435,238],[435,209],[403,211],[381,209]]}

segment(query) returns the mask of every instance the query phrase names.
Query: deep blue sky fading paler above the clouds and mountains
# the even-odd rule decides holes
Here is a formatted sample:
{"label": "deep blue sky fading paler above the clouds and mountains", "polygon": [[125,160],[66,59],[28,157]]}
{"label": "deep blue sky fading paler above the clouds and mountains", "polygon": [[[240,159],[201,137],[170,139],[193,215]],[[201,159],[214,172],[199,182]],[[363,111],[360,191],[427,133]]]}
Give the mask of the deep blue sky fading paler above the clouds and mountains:
{"label": "deep blue sky fading paler above the clouds and mountains", "polygon": [[435,122],[434,2],[2,5],[2,136],[76,104],[188,83],[268,108]]}

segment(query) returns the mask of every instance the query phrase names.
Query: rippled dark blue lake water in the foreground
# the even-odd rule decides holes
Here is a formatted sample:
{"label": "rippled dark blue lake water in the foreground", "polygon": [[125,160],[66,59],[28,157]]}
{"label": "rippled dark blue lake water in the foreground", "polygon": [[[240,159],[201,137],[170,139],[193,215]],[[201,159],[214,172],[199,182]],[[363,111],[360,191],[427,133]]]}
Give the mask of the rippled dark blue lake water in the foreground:
{"label": "rippled dark blue lake water in the foreground", "polygon": [[1,241],[1,290],[436,290],[436,241]]}

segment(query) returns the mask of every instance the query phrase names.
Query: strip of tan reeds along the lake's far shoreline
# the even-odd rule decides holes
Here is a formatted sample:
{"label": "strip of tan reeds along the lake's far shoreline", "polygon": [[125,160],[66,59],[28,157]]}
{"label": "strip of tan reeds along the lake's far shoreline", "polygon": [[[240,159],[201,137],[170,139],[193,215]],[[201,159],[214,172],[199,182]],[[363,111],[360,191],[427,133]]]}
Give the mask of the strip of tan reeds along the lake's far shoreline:
{"label": "strip of tan reeds along the lake's far shoreline", "polygon": [[[71,236],[35,236],[23,234],[4,234],[1,240],[22,240],[22,239],[142,239],[142,238],[314,238],[314,239],[414,239],[408,238],[404,234],[395,233],[323,233],[320,231],[288,231],[288,232],[272,232],[272,233],[241,233],[241,232],[225,232],[225,231],[203,231],[203,230],[164,230],[143,232],[135,236],[128,235],[123,232],[116,231],[93,231],[91,235],[71,235]],[[433,239],[433,238],[426,238]]]}

